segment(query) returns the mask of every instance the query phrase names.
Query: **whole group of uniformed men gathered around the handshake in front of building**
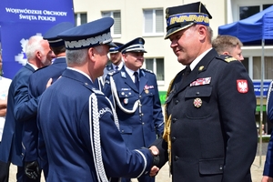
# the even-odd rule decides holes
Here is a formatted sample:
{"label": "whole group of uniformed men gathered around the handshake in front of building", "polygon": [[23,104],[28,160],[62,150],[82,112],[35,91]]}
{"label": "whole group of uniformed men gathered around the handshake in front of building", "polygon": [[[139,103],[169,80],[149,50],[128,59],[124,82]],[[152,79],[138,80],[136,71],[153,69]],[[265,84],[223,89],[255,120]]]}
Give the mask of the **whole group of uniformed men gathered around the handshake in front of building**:
{"label": "whole group of uniformed men gathered around the handshake in front of building", "polygon": [[186,68],[164,116],[157,77],[141,68],[145,40],[113,43],[113,18],[30,37],[7,95],[3,181],[11,162],[18,182],[40,181],[42,170],[49,182],[153,182],[168,162],[173,182],[250,182],[256,96],[238,39],[238,58],[212,47],[211,18],[200,2],[166,10],[165,39]]}

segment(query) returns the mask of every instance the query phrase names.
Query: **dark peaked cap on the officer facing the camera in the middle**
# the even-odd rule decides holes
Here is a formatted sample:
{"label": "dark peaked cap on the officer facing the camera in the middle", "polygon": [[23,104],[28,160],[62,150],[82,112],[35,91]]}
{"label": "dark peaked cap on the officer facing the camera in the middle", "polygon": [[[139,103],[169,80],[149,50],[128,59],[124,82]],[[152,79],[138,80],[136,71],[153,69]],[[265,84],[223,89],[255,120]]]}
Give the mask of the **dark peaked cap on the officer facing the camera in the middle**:
{"label": "dark peaked cap on the officer facing the camera in the middle", "polygon": [[126,43],[125,45],[120,46],[118,50],[122,54],[127,52],[147,53],[147,51],[144,49],[144,44],[145,44],[145,40],[141,37],[137,37],[134,40],[131,40],[130,42]]}

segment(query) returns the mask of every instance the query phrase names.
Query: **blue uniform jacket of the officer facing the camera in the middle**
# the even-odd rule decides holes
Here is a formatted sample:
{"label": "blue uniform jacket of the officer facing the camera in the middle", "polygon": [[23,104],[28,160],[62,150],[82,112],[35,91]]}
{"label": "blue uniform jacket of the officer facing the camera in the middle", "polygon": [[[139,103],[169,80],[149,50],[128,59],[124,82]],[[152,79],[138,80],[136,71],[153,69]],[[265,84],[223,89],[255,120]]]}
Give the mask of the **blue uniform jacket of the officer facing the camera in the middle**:
{"label": "blue uniform jacket of the officer facing the camera in the middle", "polygon": [[164,130],[155,74],[146,69],[140,69],[139,88],[136,88],[124,66],[120,71],[108,74],[104,93],[113,103],[117,103],[116,100],[113,100],[110,76],[115,81],[118,101],[123,107],[131,110],[136,100],[140,100],[140,106],[137,107],[136,112],[131,114],[124,112],[116,104],[120,133],[126,142],[126,146],[131,149],[148,147],[157,139],[157,135],[161,136]]}

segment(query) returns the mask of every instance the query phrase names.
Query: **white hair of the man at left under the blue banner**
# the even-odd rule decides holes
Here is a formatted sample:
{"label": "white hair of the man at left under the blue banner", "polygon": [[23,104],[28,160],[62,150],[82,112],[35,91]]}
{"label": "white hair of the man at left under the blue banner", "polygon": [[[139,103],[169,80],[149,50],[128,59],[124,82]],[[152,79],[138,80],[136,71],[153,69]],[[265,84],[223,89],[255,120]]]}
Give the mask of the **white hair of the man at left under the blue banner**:
{"label": "white hair of the man at left under the blue banner", "polygon": [[25,55],[27,60],[35,58],[36,51],[44,53],[44,48],[42,42],[44,41],[43,36],[33,35],[28,39],[27,44],[25,45]]}

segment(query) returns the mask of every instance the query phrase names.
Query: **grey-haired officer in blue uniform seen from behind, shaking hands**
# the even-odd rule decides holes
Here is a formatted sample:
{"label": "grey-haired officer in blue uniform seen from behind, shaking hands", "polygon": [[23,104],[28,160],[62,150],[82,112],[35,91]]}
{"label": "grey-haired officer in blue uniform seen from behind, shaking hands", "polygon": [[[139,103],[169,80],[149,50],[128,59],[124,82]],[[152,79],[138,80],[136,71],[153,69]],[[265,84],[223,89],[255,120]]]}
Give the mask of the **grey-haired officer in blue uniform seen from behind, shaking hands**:
{"label": "grey-haired officer in blue uniform seen from behind, shaking hands", "polygon": [[[94,81],[103,75],[114,19],[105,17],[61,34],[67,68],[38,104],[37,125],[48,158],[48,182],[113,181],[148,175],[154,157],[130,150],[119,133],[114,107]],[[157,154],[155,154],[157,155]]]}

